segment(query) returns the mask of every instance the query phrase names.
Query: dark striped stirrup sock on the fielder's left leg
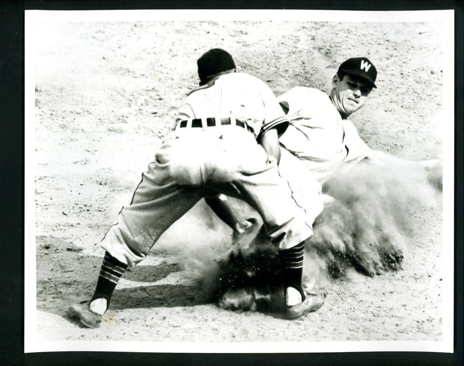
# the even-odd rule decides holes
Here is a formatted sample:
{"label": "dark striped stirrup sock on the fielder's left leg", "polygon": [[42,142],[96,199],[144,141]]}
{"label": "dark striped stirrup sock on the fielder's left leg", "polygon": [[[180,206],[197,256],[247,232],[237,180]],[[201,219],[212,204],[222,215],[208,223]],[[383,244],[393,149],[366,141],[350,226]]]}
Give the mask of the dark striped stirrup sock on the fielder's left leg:
{"label": "dark striped stirrup sock on the fielder's left leg", "polygon": [[98,276],[97,288],[90,302],[103,298],[106,300],[106,308],[108,308],[116,284],[126,269],[127,264],[118,261],[110,253],[105,252],[100,275]]}

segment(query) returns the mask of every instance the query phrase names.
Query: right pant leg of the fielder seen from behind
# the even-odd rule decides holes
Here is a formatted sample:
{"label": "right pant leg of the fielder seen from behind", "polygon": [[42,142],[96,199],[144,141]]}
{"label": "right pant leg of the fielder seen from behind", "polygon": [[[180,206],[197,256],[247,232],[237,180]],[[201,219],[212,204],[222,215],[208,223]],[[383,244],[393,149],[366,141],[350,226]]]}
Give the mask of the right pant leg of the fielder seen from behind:
{"label": "right pant leg of the fielder seen from behind", "polygon": [[242,199],[257,210],[267,235],[281,250],[312,235],[313,222],[306,222],[303,200],[279,174],[275,159],[258,144],[238,146],[219,140],[217,145],[201,167],[208,188]]}

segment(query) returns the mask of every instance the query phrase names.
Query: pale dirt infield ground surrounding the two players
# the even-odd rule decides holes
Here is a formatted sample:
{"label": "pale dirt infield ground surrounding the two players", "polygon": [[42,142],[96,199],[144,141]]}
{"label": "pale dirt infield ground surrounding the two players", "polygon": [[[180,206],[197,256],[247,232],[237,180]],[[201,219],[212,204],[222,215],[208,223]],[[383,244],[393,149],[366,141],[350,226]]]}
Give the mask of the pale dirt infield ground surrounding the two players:
{"label": "pale dirt infield ground surrounding the two players", "polygon": [[278,313],[226,311],[198,295],[182,270],[184,224],[189,224],[189,243],[205,246],[209,239],[230,236],[226,230],[206,230],[201,216],[210,212],[201,204],[164,236],[161,250],[126,273],[101,329],[83,328],[65,313],[70,304],[91,296],[103,255],[97,244],[173,127],[176,108],[197,83],[195,61],[203,52],[230,51],[242,71],[267,81],[276,95],[294,85],[328,91],[340,62],[365,55],[379,71],[379,88],[352,118],[361,137],[372,148],[423,160],[441,154],[438,29],[419,23],[40,25],[35,75],[39,338],[440,340],[440,209],[415,213],[417,227],[403,270],[372,278],[351,271],[328,283],[326,306],[298,321]]}

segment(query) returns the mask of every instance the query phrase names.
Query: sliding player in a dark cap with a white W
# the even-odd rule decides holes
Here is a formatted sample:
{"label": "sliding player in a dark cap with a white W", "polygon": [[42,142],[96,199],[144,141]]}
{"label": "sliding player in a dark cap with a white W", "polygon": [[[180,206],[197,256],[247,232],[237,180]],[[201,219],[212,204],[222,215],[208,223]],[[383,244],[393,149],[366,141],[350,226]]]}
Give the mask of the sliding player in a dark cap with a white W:
{"label": "sliding player in a dark cap with a white W", "polygon": [[[366,103],[372,89],[377,88],[376,77],[377,69],[368,58],[349,58],[340,64],[332,78],[332,91],[329,96],[321,90],[296,86],[277,97],[290,121],[290,126],[279,138],[281,174],[284,173],[290,182],[300,180],[299,173],[304,171],[303,163],[311,171],[312,177],[322,184],[338,168],[349,168],[359,161],[364,160],[377,165],[383,165],[388,161],[400,161],[392,155],[371,150],[359,137],[353,122],[348,120],[352,113]],[[437,160],[401,162],[426,169],[438,166]],[[314,189],[314,185],[307,189]],[[327,195],[321,197],[326,205],[333,200]],[[232,213],[228,216],[228,225],[246,225],[243,224],[245,220],[234,216],[233,209],[230,212]]]}

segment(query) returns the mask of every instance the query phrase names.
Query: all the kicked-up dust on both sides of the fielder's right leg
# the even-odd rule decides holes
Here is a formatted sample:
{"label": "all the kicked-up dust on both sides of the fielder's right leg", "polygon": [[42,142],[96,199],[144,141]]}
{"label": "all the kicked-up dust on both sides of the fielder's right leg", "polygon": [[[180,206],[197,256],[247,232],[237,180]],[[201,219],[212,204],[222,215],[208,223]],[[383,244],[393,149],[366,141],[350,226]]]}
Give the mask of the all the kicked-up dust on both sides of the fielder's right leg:
{"label": "all the kicked-up dust on both sides of the fielder's right leg", "polygon": [[[366,276],[400,270],[420,211],[438,205],[441,189],[439,162],[424,167],[419,162],[367,161],[335,173],[323,187],[335,200],[316,219],[305,246],[307,291],[320,291],[352,270]],[[256,215],[251,208],[238,205],[238,210]],[[277,248],[263,230],[256,228],[232,246],[232,231],[200,203],[167,234],[166,248],[177,250],[184,274],[200,285],[207,300],[232,310],[282,307]]]}

